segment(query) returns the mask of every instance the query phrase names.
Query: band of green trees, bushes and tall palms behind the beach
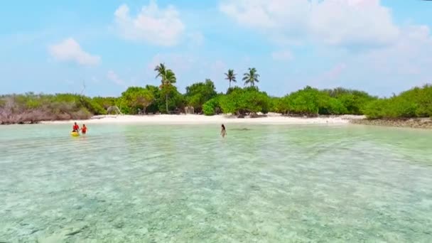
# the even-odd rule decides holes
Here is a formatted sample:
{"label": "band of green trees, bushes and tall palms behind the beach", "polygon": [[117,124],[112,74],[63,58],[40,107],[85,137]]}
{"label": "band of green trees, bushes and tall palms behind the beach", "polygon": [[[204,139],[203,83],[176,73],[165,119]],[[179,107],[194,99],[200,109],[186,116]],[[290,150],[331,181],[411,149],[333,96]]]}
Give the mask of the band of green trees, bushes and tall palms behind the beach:
{"label": "band of green trees, bushes and tall palms behind the beach", "polygon": [[[392,97],[376,97],[342,87],[318,90],[306,86],[284,97],[259,90],[259,73],[249,68],[242,77],[225,72],[229,88],[218,93],[212,80],[195,82],[184,94],[175,87],[175,72],[163,63],[154,69],[160,86],[129,87],[120,97],[83,94],[13,94],[0,96],[0,124],[36,124],[41,121],[91,119],[105,114],[232,114],[237,118],[364,116],[355,124],[432,128],[432,86],[413,87]],[[241,84],[239,87],[235,84]]]}

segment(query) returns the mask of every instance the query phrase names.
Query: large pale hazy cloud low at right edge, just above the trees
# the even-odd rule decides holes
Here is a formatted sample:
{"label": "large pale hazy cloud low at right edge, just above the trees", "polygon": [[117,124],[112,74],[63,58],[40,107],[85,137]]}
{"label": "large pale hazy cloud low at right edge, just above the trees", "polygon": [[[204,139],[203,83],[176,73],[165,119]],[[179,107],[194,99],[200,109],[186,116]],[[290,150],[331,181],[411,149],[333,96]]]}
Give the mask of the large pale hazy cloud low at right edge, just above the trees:
{"label": "large pale hazy cloud low at right edge, just above the trees", "polygon": [[432,36],[428,26],[404,26],[392,45],[345,53],[340,64],[315,77],[318,87],[352,87],[375,95],[391,95],[431,82]]}

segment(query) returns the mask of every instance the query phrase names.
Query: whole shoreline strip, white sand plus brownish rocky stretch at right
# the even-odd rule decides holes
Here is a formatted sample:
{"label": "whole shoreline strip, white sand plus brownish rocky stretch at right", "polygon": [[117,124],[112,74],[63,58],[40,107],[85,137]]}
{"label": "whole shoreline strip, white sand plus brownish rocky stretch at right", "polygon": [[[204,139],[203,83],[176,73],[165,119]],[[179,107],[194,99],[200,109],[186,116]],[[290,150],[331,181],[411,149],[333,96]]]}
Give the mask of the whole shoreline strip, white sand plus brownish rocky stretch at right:
{"label": "whole shoreline strip, white sand plus brownish rocky stretch at right", "polygon": [[356,124],[367,126],[432,129],[432,118],[367,119],[362,115],[290,117],[269,113],[263,117],[238,118],[232,114],[205,116],[202,114],[99,115],[90,119],[40,121],[37,124]]}

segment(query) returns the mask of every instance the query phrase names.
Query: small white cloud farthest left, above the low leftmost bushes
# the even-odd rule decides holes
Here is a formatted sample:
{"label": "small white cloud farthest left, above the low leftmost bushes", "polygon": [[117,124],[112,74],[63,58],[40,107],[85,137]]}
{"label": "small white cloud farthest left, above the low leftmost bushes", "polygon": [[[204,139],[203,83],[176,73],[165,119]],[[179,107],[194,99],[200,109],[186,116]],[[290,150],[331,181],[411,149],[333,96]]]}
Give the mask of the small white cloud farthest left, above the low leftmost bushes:
{"label": "small white cloud farthest left, above the low leftmost bushes", "polygon": [[67,38],[56,45],[50,45],[48,50],[53,58],[60,61],[73,61],[80,65],[97,65],[100,62],[99,56],[86,53],[73,38]]}

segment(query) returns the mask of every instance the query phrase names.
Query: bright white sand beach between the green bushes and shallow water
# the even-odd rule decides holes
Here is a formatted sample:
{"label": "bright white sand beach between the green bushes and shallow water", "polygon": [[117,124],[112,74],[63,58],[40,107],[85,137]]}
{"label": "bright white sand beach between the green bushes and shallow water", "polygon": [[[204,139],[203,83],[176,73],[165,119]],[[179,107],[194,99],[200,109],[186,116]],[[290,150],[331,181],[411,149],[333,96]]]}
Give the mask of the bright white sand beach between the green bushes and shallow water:
{"label": "bright white sand beach between the green bushes and shallow water", "polygon": [[350,119],[362,119],[363,116],[337,117],[286,117],[281,114],[267,114],[266,117],[237,118],[231,115],[215,115],[207,117],[198,114],[149,114],[149,115],[104,115],[87,120],[43,121],[43,124],[67,124],[74,121],[82,124],[348,124]]}

